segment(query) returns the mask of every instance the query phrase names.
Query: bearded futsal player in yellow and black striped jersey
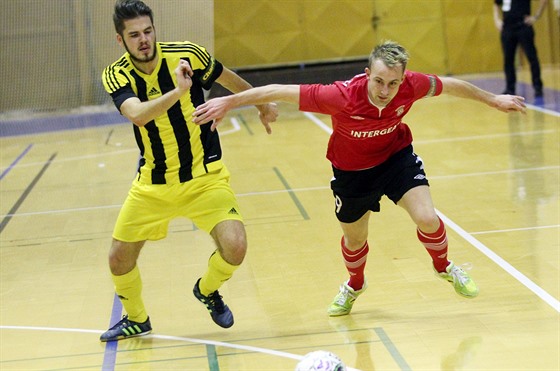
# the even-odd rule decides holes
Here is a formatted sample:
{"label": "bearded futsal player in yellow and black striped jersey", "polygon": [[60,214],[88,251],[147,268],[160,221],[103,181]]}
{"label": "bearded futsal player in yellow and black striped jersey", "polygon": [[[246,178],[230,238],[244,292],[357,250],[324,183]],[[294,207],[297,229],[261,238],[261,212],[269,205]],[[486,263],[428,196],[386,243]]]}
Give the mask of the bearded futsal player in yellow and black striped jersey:
{"label": "bearded futsal player in yellow and black striped jersey", "polygon": [[[105,68],[103,85],[120,113],[134,124],[141,159],[109,251],[115,291],[126,315],[100,340],[151,332],[137,260],[145,242],[166,237],[169,221],[176,217],[191,219],[213,237],[217,249],[193,293],[216,324],[231,327],[233,314],[218,289],[245,257],[245,227],[222,162],[218,133],[210,130],[211,123],[195,125],[192,113],[204,103],[203,88],[214,82],[234,93],[251,85],[200,45],[157,42],[152,10],[140,0],[118,0],[113,21],[117,42],[126,53]],[[270,133],[276,106],[257,108]]]}

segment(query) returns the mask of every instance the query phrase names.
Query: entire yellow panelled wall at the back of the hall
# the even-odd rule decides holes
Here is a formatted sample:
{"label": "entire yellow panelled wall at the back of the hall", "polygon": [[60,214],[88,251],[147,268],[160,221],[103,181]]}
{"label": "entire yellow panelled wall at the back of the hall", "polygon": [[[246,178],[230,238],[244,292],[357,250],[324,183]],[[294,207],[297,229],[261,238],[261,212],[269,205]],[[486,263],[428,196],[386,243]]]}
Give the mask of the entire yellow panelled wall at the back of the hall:
{"label": "entire yellow panelled wall at the back of the hall", "polygon": [[[356,59],[391,39],[409,50],[410,67],[419,71],[496,72],[502,53],[492,6],[491,0],[214,0],[215,54],[232,67]],[[535,26],[543,64],[560,59],[552,12],[549,2]]]}

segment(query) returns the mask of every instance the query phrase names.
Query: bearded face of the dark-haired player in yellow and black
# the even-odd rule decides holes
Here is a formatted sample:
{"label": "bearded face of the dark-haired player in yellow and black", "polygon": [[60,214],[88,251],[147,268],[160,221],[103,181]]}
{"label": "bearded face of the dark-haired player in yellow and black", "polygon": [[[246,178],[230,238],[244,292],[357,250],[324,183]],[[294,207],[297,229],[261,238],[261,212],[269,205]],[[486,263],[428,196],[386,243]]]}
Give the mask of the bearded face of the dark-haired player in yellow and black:
{"label": "bearded face of the dark-haired player in yellow and black", "polygon": [[156,57],[156,30],[150,17],[142,16],[124,21],[124,30],[117,34],[117,40],[130,58],[136,62],[148,63]]}

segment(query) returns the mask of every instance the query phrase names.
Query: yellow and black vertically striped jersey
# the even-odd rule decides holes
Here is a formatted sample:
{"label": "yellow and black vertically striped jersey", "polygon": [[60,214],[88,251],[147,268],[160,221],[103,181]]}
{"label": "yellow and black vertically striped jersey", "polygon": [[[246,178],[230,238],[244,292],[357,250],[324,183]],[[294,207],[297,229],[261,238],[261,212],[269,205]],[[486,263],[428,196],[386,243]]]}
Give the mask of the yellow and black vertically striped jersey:
{"label": "yellow and black vertically striped jersey", "polygon": [[139,180],[148,184],[174,184],[220,169],[222,151],[217,131],[210,125],[192,122],[195,107],[204,103],[209,89],[221,75],[223,66],[202,46],[188,41],[156,43],[159,56],[156,69],[146,75],[134,67],[125,53],[103,71],[105,90],[120,111],[131,97],[148,101],[175,89],[175,68],[181,59],[193,69],[193,85],[166,113],[143,127],[134,127],[140,149]]}

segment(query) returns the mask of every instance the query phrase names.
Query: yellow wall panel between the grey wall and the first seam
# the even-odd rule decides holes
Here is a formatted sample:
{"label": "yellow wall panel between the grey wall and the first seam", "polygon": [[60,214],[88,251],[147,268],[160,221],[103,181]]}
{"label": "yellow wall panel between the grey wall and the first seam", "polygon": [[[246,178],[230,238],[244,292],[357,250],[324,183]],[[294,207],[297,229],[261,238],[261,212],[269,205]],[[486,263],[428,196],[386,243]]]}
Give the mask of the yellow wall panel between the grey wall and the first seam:
{"label": "yellow wall panel between the grey wall and the first seam", "polygon": [[371,1],[216,0],[216,57],[232,67],[364,57],[371,15]]}

